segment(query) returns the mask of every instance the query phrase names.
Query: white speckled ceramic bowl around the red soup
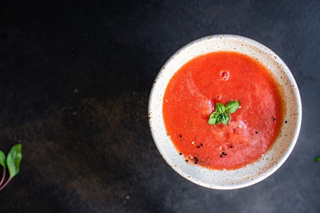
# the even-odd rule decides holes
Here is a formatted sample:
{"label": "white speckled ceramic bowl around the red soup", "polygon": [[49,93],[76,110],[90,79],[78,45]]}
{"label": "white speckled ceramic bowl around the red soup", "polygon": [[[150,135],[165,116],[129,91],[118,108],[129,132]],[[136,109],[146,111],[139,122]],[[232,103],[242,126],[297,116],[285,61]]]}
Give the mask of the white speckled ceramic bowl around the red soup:
{"label": "white speckled ceramic bowl around the red soup", "polygon": [[[282,86],[286,102],[286,124],[273,146],[259,161],[232,171],[208,170],[188,164],[166,134],[162,115],[163,97],[172,76],[190,59],[215,51],[236,51],[256,58],[267,66]],[[300,93],[286,64],[261,43],[236,35],[212,35],[188,43],[163,65],[150,92],[148,117],[154,143],[170,167],[186,179],[209,188],[229,190],[255,184],[275,172],[290,155],[298,139],[302,107]]]}

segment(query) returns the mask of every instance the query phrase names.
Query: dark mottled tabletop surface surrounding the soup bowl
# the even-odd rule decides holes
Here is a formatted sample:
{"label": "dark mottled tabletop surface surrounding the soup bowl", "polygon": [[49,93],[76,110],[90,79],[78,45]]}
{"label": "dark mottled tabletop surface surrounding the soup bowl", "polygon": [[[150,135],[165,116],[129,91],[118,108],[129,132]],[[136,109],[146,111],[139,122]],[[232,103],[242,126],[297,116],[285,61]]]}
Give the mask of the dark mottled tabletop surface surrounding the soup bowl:
{"label": "dark mottled tabletop surface surrounding the soup bowl", "polygon": [[[320,212],[319,1],[0,2],[0,149],[22,143],[0,212]],[[301,134],[269,178],[239,190],[170,169],[148,130],[151,84],[186,43],[237,34],[275,51]]]}

